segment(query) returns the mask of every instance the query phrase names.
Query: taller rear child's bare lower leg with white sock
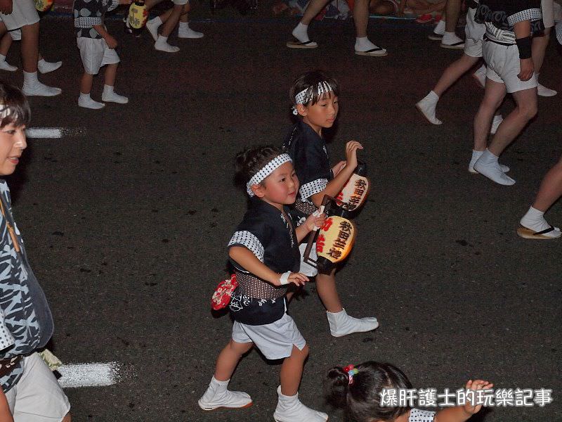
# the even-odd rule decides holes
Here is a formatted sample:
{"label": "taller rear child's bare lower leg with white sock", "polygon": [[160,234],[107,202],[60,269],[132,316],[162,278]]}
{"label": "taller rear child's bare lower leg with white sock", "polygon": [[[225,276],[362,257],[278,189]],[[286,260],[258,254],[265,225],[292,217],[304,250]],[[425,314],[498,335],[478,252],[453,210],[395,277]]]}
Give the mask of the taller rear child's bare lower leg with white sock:
{"label": "taller rear child's bare lower leg with white sock", "polygon": [[379,321],[374,316],[358,319],[347,314],[339,299],[335,274],[336,270],[334,269],[330,274],[318,274],[316,276],[316,291],[326,308],[330,333],[334,337],[341,337],[351,333],[364,333],[377,328]]}

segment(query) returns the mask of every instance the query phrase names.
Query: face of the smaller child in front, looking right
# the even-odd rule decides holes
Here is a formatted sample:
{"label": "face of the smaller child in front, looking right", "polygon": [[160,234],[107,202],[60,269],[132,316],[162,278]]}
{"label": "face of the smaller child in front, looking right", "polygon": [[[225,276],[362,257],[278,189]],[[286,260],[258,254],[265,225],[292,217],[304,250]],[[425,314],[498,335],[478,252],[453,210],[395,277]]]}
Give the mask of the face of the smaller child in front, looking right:
{"label": "face of the smaller child in front, looking right", "polygon": [[256,195],[272,205],[289,205],[294,203],[299,192],[299,179],[292,162],[285,162],[277,167],[259,186]]}

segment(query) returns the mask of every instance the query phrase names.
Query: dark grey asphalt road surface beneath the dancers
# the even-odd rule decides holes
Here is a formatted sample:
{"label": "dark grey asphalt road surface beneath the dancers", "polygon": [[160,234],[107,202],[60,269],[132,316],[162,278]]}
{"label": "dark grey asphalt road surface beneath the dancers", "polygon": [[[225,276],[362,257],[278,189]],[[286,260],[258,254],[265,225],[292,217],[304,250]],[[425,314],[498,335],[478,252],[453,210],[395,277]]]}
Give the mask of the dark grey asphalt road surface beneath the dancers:
{"label": "dark grey asphalt road surface beneath the dancers", "polygon": [[[125,37],[108,21],[121,43],[116,91],[130,102],[85,110],[77,107],[82,68],[72,20],[42,20],[41,51],[64,65],[41,80],[63,94],[31,98],[31,126],[70,132],[30,140],[9,180],[16,221],[55,316],[51,350],[65,363],[122,366],[115,385],[66,390],[74,421],[273,419],[280,366],[255,351],[230,384],[249,392],[253,407],[206,413],[197,399],[232,325],[211,314],[210,298],[245,207],[231,183],[233,157],[244,146],[282,142],[292,79],[315,68],[341,83],[332,160],[357,139],[374,185],[355,220],[358,240],[339,292],[350,314],[375,315],[381,326],[332,338],[311,283],[290,307],[311,346],[301,400],[327,410],[327,370],[376,359],[399,366],[417,388],[455,390],[485,378],[497,388],[552,389],[547,406],[495,408],[474,420],[562,421],[561,241],[516,236],[562,153],[562,94],[540,98],[537,118],[502,156],[517,183],[499,186],[466,171],[483,95],[469,75],[443,97],[442,126],[414,108],[461,54],[426,39],[431,27],[372,22],[372,39],[389,55],[368,58],[353,54],[349,21],[314,23],[318,49],[287,49],[295,23],[194,22],[205,37],[174,35],[181,52],[171,55],[154,51],[148,33]],[[10,63],[19,64],[18,47]],[[558,91],[561,66],[553,39],[541,79]],[[2,76],[22,82],[20,72]],[[102,87],[96,78],[94,99]],[[513,107],[508,100],[502,111]],[[547,218],[562,224],[562,207]]]}

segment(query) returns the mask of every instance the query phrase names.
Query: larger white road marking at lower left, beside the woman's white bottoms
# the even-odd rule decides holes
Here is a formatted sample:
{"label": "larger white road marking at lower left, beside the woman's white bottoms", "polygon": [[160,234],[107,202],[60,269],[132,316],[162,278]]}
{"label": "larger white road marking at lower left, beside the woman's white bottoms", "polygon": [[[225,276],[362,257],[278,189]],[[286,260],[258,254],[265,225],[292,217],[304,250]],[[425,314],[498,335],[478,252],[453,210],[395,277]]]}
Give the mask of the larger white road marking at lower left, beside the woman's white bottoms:
{"label": "larger white road marking at lower left, beside the woman's white bottoms", "polygon": [[65,364],[58,369],[58,383],[63,388],[105,387],[119,381],[119,364]]}

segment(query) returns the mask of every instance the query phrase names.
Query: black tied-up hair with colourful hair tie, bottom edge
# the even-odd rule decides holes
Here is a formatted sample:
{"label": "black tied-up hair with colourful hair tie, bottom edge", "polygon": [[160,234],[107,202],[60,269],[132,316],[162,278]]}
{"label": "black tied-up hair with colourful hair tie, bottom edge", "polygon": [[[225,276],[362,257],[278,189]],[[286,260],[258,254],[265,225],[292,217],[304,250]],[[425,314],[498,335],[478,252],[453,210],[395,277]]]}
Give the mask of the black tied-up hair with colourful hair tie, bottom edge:
{"label": "black tied-up hair with colourful hair tie, bottom edge", "polygon": [[365,362],[355,366],[358,370],[349,383],[349,375],[340,366],[329,370],[325,379],[327,402],[345,409],[356,422],[394,421],[410,407],[381,406],[381,390],[384,388],[410,389],[407,376],[392,364]]}

